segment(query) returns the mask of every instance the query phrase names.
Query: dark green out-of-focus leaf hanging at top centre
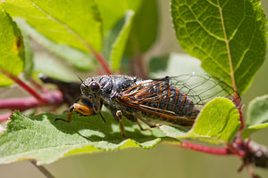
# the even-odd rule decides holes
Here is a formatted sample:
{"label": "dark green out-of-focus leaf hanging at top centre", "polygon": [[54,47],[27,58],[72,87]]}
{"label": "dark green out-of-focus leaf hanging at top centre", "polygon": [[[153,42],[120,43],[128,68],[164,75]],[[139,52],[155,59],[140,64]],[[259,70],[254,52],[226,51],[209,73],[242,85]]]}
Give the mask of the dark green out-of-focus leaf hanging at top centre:
{"label": "dark green out-of-focus leaf hanging at top centre", "polygon": [[134,56],[147,52],[155,42],[158,32],[157,1],[142,1],[138,12],[135,13],[133,28],[127,44],[126,55]]}

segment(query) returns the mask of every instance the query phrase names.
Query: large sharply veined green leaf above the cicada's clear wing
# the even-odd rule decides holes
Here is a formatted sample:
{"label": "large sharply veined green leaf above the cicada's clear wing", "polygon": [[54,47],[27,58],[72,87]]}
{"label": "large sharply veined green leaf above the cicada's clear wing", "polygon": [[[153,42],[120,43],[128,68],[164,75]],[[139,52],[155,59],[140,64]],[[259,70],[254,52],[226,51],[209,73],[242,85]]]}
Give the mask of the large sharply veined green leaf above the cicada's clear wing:
{"label": "large sharply veined green leaf above the cicada's clear wing", "polygon": [[266,18],[260,0],[172,0],[183,49],[208,73],[245,93],[264,62]]}

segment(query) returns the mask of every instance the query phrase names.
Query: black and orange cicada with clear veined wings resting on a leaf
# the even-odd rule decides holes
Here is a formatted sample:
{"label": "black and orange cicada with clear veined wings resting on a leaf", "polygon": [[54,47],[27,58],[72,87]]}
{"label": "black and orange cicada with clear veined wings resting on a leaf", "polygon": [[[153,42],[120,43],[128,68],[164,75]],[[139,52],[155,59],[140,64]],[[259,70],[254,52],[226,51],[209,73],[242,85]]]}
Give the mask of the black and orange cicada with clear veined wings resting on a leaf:
{"label": "black and orange cicada with clear veined wings resting on a leaf", "polygon": [[83,104],[72,104],[68,119],[56,120],[71,122],[72,111],[79,112],[83,116],[101,115],[101,109],[105,105],[120,123],[121,134],[125,138],[123,117],[137,122],[141,130],[146,129],[142,128],[139,121],[151,128],[163,124],[189,128],[207,101],[216,96],[231,99],[234,93],[230,85],[208,74],[188,74],[148,80],[106,75],[88,77],[81,82],[80,101]]}

